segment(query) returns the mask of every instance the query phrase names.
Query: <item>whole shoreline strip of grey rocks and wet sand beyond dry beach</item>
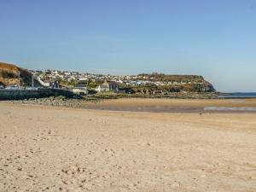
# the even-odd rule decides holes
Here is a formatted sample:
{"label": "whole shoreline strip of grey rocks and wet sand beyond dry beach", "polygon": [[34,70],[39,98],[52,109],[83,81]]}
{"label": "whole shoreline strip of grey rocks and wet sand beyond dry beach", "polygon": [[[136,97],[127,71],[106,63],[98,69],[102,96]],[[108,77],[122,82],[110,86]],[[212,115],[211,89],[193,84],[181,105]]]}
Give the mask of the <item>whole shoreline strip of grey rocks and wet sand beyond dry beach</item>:
{"label": "whole shoreline strip of grey rocks and wet sand beyond dry beach", "polygon": [[149,113],[256,113],[256,99],[166,99],[166,98],[120,98],[98,101],[73,99],[34,99],[5,101],[26,106],[53,106],[117,112]]}

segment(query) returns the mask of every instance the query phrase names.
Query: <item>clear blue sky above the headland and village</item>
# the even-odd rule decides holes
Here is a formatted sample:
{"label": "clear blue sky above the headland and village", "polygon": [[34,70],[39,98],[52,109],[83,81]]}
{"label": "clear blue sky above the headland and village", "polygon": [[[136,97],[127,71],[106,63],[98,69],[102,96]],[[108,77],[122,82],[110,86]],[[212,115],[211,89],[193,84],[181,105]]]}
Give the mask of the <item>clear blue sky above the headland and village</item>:
{"label": "clear blue sky above the headland and village", "polygon": [[200,74],[256,91],[255,0],[0,0],[0,61],[30,69]]}

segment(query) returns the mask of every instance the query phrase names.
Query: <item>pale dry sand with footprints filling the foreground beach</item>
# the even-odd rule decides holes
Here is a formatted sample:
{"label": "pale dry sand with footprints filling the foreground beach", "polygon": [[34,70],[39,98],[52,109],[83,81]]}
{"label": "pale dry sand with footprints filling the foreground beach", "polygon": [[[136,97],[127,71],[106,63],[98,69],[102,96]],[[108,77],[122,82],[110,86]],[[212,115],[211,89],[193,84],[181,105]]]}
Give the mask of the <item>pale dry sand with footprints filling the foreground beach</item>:
{"label": "pale dry sand with footprints filling the foreground beach", "polygon": [[0,191],[253,192],[256,113],[0,102]]}

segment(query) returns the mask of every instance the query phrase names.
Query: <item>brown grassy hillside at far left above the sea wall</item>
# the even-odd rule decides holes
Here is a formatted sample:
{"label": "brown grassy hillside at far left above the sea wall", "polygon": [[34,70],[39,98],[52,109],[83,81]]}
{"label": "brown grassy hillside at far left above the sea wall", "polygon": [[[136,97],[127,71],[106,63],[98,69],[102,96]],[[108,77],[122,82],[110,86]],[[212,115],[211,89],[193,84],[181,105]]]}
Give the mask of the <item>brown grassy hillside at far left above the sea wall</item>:
{"label": "brown grassy hillside at far left above the sea wall", "polygon": [[[32,85],[32,73],[26,69],[17,67],[13,64],[0,62],[0,84],[3,85],[17,85],[19,84],[20,73],[20,85],[31,86]],[[34,85],[39,86],[37,79],[34,79]]]}

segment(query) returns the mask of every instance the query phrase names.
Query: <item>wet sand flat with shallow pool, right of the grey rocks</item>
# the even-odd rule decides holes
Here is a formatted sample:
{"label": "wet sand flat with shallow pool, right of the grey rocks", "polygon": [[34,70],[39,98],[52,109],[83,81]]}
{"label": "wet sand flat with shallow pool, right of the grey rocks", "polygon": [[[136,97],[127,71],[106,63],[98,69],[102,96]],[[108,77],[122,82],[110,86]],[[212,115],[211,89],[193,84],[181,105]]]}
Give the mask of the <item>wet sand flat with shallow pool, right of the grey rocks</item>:
{"label": "wet sand flat with shallow pool, right of the grey rocks", "polygon": [[[209,107],[221,108],[222,110],[205,109]],[[87,102],[84,103],[83,108],[152,113],[256,113],[256,99],[191,100],[125,98],[105,100],[102,102]],[[242,110],[229,110],[228,108],[242,108]],[[253,108],[255,110],[246,110],[246,108]]]}

